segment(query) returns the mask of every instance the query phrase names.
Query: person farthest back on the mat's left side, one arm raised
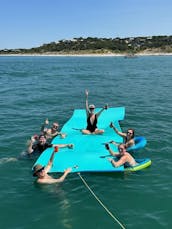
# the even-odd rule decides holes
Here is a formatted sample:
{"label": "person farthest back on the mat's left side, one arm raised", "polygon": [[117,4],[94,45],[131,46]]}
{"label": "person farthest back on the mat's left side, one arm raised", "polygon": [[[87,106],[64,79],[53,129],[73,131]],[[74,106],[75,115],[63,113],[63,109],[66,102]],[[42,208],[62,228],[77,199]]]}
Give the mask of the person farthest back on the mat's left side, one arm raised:
{"label": "person farthest back on the mat's left side, one arm raised", "polygon": [[42,125],[41,127],[41,132],[42,134],[45,135],[46,139],[52,139],[56,136],[60,136],[61,138],[65,138],[66,137],[66,134],[65,133],[61,133],[58,131],[58,128],[59,128],[59,124],[58,122],[54,122],[52,124],[52,127],[51,128],[48,128],[47,126],[49,125],[49,120],[48,118],[45,120],[44,124]]}

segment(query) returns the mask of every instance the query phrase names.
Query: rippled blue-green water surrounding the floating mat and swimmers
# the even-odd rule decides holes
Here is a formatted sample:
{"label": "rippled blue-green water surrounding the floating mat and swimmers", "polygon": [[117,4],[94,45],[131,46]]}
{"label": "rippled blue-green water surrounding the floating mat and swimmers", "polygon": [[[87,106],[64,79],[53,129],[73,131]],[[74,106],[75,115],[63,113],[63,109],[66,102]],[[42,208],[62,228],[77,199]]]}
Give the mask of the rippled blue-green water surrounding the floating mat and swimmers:
{"label": "rippled blue-green water surrounding the floating mat and swimmers", "polygon": [[86,88],[97,107],[125,106],[121,127],[146,137],[135,156],[150,157],[152,165],[83,178],[126,228],[172,228],[172,56],[0,56],[0,228],[120,228],[77,174],[39,186],[34,160],[15,160],[46,117],[62,127],[84,108]]}

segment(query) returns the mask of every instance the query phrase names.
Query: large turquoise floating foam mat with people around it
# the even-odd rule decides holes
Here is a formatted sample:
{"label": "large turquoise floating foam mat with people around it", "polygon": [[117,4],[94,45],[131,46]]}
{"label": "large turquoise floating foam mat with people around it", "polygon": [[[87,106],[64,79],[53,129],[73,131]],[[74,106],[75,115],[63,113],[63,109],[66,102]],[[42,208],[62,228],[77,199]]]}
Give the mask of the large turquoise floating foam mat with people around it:
{"label": "large turquoise floating foam mat with people around it", "polygon": [[[95,112],[99,111],[97,108]],[[50,172],[63,172],[66,168],[72,167],[72,172],[113,172],[124,171],[124,166],[114,168],[107,160],[110,157],[103,143],[114,140],[122,142],[123,139],[109,127],[110,122],[121,131],[119,124],[125,116],[125,108],[109,108],[100,115],[98,119],[98,128],[104,129],[102,135],[84,135],[80,130],[86,128],[86,111],[83,109],[74,110],[72,117],[65,123],[61,132],[66,133],[66,138],[55,137],[52,144],[73,143],[74,148],[61,148],[55,154],[53,166]],[[111,146],[117,151],[116,146]],[[35,164],[47,165],[53,148],[46,149],[38,158]]]}

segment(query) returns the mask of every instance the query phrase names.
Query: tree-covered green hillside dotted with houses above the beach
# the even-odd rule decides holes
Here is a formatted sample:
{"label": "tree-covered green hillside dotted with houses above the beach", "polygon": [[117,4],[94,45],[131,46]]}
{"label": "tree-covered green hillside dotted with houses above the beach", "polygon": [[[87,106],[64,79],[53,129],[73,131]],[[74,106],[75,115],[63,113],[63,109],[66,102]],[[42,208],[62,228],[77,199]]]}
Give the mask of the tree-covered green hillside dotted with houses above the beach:
{"label": "tree-covered green hillside dotted with houses above the beach", "polygon": [[31,49],[3,49],[0,54],[137,54],[172,53],[172,36],[130,38],[74,38]]}

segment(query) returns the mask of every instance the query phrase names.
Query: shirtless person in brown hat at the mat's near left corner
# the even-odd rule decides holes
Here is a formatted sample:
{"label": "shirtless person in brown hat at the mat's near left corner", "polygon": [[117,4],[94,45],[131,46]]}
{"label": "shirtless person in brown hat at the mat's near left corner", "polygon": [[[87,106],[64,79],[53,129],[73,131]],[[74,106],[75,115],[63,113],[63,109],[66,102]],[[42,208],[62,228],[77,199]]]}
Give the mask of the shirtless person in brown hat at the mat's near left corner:
{"label": "shirtless person in brown hat at the mat's near left corner", "polygon": [[53,178],[48,175],[50,171],[55,153],[58,152],[58,148],[55,147],[50,160],[47,166],[43,166],[41,164],[36,164],[33,168],[33,176],[37,177],[36,182],[39,184],[54,184],[54,183],[61,183],[65,180],[66,176],[71,172],[71,168],[68,168],[64,171],[64,174],[59,178]]}

